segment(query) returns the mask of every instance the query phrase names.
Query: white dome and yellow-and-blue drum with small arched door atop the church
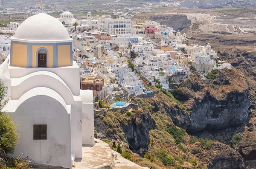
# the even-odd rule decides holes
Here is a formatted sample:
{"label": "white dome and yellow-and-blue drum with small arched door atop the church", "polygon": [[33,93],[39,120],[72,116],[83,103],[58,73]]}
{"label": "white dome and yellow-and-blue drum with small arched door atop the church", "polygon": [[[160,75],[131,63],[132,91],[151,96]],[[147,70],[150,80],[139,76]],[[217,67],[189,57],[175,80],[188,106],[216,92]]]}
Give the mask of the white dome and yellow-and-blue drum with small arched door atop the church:
{"label": "white dome and yellow-and-blue drum with small arched door atop the church", "polygon": [[25,20],[11,38],[10,65],[25,68],[71,66],[72,42],[61,22],[40,12]]}

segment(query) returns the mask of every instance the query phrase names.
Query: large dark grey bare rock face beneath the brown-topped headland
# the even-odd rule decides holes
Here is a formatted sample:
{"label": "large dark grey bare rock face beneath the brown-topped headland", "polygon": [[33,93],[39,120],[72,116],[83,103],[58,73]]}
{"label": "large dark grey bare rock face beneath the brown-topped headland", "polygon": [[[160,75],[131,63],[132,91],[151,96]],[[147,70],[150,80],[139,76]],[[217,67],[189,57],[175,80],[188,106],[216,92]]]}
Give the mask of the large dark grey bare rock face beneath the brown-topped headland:
{"label": "large dark grey bare rock face beneath the brown-topped headland", "polygon": [[238,126],[250,117],[249,92],[230,92],[225,99],[217,100],[207,91],[203,98],[193,101],[189,114],[172,107],[167,107],[167,112],[177,126],[188,132]]}

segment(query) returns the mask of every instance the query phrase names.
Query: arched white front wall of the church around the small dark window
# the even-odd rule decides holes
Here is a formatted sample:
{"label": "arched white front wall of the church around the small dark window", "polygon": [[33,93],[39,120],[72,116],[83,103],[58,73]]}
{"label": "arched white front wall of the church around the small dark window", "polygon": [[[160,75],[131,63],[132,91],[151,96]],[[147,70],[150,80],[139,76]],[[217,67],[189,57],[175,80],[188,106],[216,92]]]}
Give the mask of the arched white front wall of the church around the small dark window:
{"label": "arched white front wall of the church around the small dark window", "polygon": [[[17,106],[17,110],[13,107]],[[66,107],[64,107],[66,106]],[[15,155],[23,153],[36,163],[71,168],[70,105],[46,87],[29,90],[18,101],[9,101],[20,140]],[[33,125],[47,124],[47,140],[33,140]]]}

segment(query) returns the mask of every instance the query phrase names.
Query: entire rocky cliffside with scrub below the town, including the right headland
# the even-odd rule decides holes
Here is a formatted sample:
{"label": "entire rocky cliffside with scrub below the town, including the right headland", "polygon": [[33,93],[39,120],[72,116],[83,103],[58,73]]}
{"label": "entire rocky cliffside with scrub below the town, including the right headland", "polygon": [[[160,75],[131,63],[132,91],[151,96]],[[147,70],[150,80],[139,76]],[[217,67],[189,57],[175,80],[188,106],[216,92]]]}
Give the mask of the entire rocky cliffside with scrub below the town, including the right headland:
{"label": "entire rocky cliffside with scrub below the town, including the right headland", "polygon": [[[155,169],[165,169],[169,165],[176,168],[244,169],[243,157],[253,157],[253,151],[239,154],[239,150],[209,140],[205,137],[207,135],[193,138],[186,133],[237,127],[250,120],[250,86],[236,70],[221,70],[212,84],[204,84],[194,72],[179,87],[173,87],[172,94],[154,86],[147,88],[155,90],[156,96],[135,98],[139,110],[128,110],[132,115],[121,111],[95,115],[97,132],[107,137],[118,135],[128,143],[126,147],[130,150],[135,149],[140,155],[148,152],[156,158],[147,163],[145,158],[134,160],[138,164],[154,166]],[[227,142],[229,144],[230,139]],[[166,164],[166,158],[173,162]]]}

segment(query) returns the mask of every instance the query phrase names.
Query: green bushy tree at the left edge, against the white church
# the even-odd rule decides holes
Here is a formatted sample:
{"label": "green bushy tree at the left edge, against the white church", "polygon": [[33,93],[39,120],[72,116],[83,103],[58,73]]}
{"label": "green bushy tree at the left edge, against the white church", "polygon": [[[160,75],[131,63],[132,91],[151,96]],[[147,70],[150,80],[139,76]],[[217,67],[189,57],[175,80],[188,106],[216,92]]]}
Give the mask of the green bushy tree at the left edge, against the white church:
{"label": "green bushy tree at the left edge, against the white church", "polygon": [[2,111],[8,102],[7,96],[7,87],[0,80],[0,149],[7,154],[12,154],[15,151],[19,135],[11,116]]}

